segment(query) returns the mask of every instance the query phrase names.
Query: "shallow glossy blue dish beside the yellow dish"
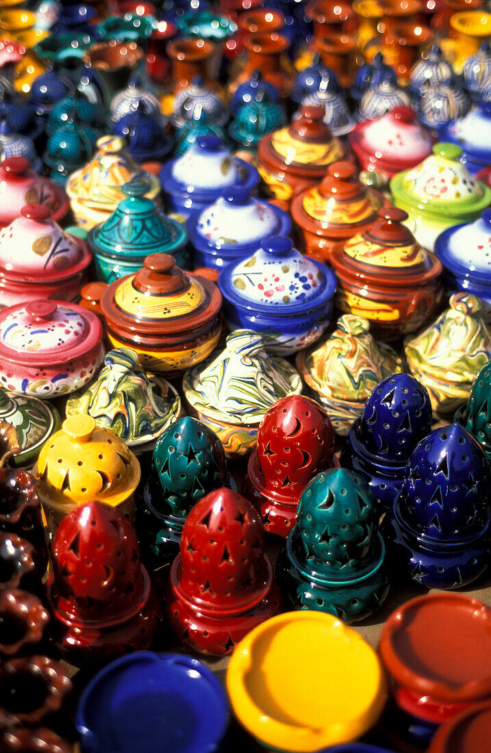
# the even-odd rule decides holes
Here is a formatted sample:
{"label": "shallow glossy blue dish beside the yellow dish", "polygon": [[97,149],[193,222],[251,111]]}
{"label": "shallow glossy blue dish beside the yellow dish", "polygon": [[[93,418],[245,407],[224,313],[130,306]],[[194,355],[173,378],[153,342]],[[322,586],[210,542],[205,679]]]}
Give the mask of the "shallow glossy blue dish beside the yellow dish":
{"label": "shallow glossy blue dish beside the yellow dish", "polygon": [[160,751],[163,739],[174,753],[208,753],[218,750],[228,716],[221,684],[200,661],[137,651],[87,684],[75,725],[82,753],[107,751],[114,735],[121,753],[135,751],[143,736],[148,753]]}

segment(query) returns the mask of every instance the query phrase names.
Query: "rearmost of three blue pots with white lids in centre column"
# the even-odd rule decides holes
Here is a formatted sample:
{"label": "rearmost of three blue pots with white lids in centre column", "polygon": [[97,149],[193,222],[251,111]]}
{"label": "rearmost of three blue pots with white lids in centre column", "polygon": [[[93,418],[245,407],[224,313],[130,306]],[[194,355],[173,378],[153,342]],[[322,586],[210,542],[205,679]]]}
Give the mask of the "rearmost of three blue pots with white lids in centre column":
{"label": "rearmost of three blue pots with white lids in centre column", "polygon": [[163,165],[160,181],[169,209],[188,217],[206,209],[227,188],[252,191],[259,175],[255,167],[233,157],[218,136],[201,136],[182,157]]}

